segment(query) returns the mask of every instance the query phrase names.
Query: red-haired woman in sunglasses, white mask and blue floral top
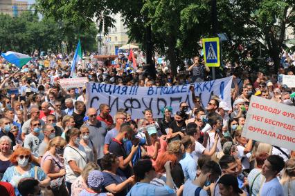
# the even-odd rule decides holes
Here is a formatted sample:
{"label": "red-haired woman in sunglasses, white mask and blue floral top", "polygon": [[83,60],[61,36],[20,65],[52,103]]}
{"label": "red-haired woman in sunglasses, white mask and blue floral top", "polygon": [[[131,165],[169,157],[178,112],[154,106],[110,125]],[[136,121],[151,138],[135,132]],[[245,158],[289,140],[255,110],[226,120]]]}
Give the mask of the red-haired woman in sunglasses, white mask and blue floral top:
{"label": "red-haired woman in sunglasses, white mask and blue floral top", "polygon": [[46,187],[50,183],[50,178],[44,173],[42,168],[34,166],[33,155],[28,148],[19,147],[12,153],[10,161],[13,166],[7,168],[2,181],[9,182],[15,188],[15,195],[19,195],[17,186],[19,181],[26,177],[35,178],[39,181],[39,186]]}

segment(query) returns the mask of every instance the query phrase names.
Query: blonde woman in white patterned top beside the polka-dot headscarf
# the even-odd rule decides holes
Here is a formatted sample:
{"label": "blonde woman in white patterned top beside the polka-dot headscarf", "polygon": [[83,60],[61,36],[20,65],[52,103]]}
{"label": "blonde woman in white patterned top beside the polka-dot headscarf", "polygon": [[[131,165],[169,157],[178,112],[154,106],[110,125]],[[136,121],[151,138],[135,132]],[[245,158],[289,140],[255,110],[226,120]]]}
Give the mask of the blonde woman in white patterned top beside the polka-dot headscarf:
{"label": "blonde woman in white patterned top beside the polka-dot headscarf", "polygon": [[87,177],[91,170],[100,170],[100,167],[94,162],[89,162],[71,185],[71,196],[78,196],[83,189],[87,188]]}

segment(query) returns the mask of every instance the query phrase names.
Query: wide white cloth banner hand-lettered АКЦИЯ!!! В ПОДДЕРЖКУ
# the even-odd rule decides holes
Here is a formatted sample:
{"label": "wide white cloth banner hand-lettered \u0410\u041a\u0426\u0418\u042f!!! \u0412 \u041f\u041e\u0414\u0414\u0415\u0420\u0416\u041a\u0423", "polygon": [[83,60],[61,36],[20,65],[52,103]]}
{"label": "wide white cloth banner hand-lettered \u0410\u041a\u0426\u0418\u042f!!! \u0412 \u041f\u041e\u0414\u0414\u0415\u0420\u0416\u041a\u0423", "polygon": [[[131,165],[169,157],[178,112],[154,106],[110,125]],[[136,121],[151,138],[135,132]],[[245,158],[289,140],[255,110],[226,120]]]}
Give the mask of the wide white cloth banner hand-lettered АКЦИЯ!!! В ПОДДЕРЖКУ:
{"label": "wide white cloth banner hand-lettered \u0410\u041a\u0426\u0418\u042f!!! \u0412 \u041f\u041e\u0414\u0414\u0415\u0420\u0416\u041a\u0423", "polygon": [[[231,106],[231,82],[233,77],[215,79],[192,84],[195,87],[195,95],[200,97],[202,106],[206,107],[213,95],[220,97],[222,101]],[[163,117],[161,108],[171,106],[173,112],[179,110],[181,102],[188,103],[194,108],[190,92],[190,84],[181,86],[116,86],[89,82],[86,85],[87,108],[98,108],[100,104],[108,104],[111,115],[115,115],[119,108],[127,108],[132,118],[143,117],[143,110],[150,108],[155,118]]]}

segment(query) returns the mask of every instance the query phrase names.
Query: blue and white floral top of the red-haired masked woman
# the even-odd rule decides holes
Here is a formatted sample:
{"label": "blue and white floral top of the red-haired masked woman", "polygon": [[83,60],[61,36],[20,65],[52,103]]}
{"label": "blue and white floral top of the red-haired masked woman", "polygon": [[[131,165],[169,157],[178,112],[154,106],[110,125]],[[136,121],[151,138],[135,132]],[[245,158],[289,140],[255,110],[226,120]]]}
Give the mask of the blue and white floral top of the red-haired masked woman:
{"label": "blue and white floral top of the red-haired masked woman", "polygon": [[[17,172],[15,166],[11,166],[7,168],[1,181],[9,182],[13,186],[13,188],[15,188],[15,195],[20,195],[19,190],[17,189],[17,185],[19,184],[19,180],[24,177],[35,178],[35,166],[30,165],[30,170],[22,175]],[[42,168],[37,167],[37,178],[39,181],[42,181],[46,178],[46,173],[44,173],[44,170],[42,170]]]}

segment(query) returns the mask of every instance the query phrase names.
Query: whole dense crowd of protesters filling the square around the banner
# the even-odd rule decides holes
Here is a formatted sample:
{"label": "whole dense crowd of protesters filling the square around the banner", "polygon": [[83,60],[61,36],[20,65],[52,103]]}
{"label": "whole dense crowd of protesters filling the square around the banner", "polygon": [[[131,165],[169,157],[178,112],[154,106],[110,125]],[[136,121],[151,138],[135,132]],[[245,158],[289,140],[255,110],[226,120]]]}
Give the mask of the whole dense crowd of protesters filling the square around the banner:
{"label": "whole dense crowd of protesters filling the square around the banner", "polygon": [[[281,81],[294,75],[294,61],[285,52],[278,73],[224,67],[232,106],[213,96],[202,108],[191,90],[193,108],[162,108],[161,119],[147,108],[134,119],[125,108],[114,116],[107,104],[86,108],[85,88],[62,88],[69,59],[33,57],[21,69],[0,59],[0,195],[295,195],[294,151],[242,137],[252,96],[294,108],[295,89]],[[75,77],[174,86],[211,71],[199,57],[176,77],[168,63],[156,64],[155,79],[144,68],[89,58]]]}

